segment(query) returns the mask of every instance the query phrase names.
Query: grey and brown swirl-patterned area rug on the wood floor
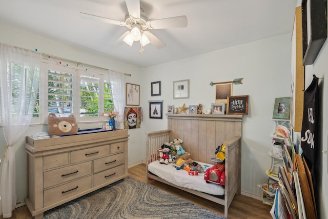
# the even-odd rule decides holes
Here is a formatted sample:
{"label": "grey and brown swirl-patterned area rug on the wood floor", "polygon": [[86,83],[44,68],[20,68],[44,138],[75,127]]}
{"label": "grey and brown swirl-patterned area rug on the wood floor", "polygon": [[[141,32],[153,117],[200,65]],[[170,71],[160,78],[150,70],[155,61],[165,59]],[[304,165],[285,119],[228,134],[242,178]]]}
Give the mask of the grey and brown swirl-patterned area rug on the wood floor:
{"label": "grey and brown swirl-patterned area rug on the wood floor", "polygon": [[219,218],[211,211],[132,177],[44,213],[44,218]]}

